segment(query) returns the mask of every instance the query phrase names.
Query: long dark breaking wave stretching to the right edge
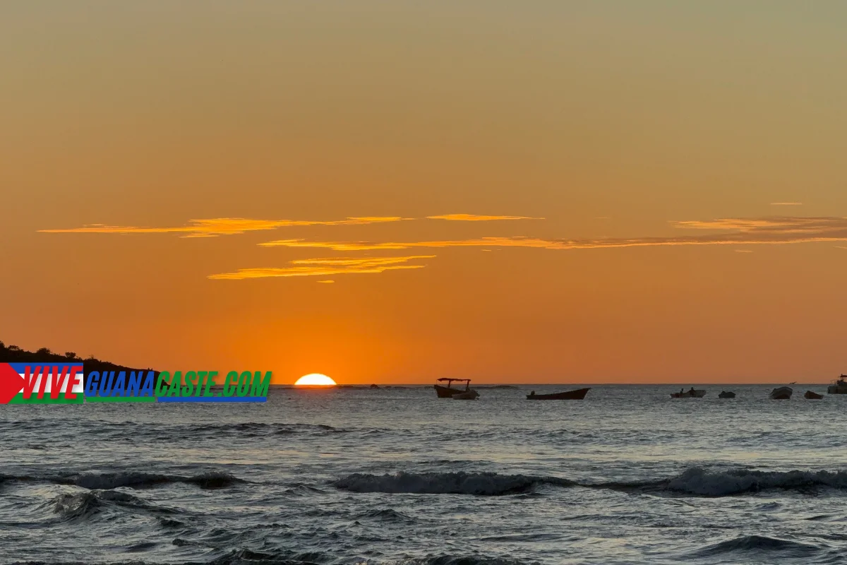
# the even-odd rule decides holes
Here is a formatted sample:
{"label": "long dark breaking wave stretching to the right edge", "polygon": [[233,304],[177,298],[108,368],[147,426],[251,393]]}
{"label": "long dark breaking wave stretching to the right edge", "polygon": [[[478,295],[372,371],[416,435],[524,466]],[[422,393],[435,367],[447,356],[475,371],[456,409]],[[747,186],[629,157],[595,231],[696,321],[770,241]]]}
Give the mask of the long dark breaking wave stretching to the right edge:
{"label": "long dark breaking wave stretching to the right edge", "polygon": [[732,469],[710,471],[689,468],[669,479],[634,482],[578,482],[558,477],[496,473],[397,473],[352,474],[333,483],[352,492],[388,494],[502,496],[522,494],[541,485],[603,490],[641,490],[689,496],[734,496],[763,490],[794,490],[815,494],[819,489],[847,490],[847,472],[838,471],[754,471]]}

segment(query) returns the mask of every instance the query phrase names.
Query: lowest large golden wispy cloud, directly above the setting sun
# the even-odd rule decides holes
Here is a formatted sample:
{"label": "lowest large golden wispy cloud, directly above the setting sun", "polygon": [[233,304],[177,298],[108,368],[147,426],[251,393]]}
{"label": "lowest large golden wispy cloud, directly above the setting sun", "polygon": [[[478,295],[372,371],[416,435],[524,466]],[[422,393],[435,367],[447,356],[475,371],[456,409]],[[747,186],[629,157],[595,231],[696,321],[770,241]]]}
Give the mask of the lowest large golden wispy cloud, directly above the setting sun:
{"label": "lowest large golden wispy cloud, directly above the setting sun", "polygon": [[234,273],[210,274],[214,280],[262,279],[265,277],[331,276],[334,274],[379,274],[397,269],[423,269],[425,265],[406,264],[415,259],[434,258],[435,255],[378,258],[320,258],[297,259],[290,267],[257,267],[238,269]]}

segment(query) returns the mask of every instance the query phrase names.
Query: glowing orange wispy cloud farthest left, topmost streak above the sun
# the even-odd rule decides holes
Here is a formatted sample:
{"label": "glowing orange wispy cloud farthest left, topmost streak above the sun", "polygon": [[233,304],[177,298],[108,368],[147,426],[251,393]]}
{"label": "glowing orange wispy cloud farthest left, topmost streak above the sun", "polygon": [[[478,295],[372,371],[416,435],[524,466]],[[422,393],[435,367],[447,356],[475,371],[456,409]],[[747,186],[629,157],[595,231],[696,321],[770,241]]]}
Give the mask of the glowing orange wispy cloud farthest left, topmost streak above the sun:
{"label": "glowing orange wispy cloud farthest left, topmost streak above the sun", "polygon": [[215,237],[217,235],[243,234],[246,231],[276,230],[303,225],[362,225],[399,222],[399,216],[366,216],[336,220],[310,219],[247,219],[213,218],[191,219],[187,225],[172,227],[137,227],[133,225],[89,224],[81,228],[38,230],[47,234],[185,234],[183,237]]}

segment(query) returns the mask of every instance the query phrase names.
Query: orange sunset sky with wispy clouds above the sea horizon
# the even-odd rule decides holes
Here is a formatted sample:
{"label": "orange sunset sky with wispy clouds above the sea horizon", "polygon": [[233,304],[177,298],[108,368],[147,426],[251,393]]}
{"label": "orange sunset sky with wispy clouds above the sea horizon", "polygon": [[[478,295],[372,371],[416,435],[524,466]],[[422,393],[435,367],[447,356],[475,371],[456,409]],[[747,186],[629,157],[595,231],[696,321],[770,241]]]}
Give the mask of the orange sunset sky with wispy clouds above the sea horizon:
{"label": "orange sunset sky with wispy clouds above the sea horizon", "polygon": [[0,340],[343,384],[847,373],[847,3],[0,4]]}

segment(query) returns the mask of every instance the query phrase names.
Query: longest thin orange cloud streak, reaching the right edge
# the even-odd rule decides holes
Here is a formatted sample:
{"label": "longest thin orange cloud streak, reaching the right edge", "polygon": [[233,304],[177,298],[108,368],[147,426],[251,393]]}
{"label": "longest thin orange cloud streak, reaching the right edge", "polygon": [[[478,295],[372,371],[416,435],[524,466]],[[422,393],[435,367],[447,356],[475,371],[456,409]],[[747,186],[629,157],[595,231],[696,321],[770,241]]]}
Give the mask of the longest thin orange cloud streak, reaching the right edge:
{"label": "longest thin orange cloud streak, reaching the right edge", "polygon": [[672,222],[687,230],[729,231],[710,235],[662,237],[555,239],[534,237],[479,237],[443,241],[304,241],[277,240],[261,246],[324,248],[333,251],[403,250],[414,247],[534,247],[540,249],[603,249],[645,246],[781,245],[812,241],[847,241],[847,218],[726,218],[708,221]]}

